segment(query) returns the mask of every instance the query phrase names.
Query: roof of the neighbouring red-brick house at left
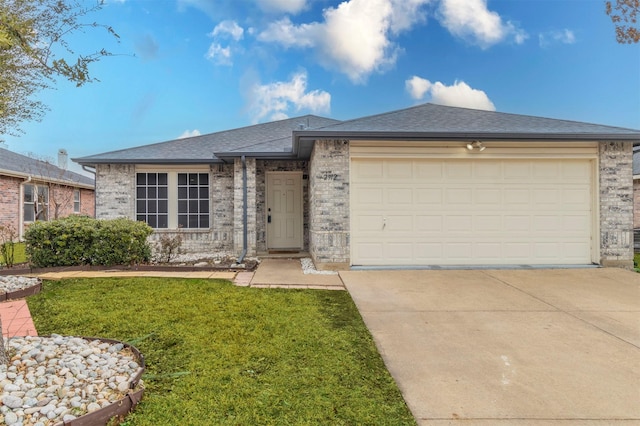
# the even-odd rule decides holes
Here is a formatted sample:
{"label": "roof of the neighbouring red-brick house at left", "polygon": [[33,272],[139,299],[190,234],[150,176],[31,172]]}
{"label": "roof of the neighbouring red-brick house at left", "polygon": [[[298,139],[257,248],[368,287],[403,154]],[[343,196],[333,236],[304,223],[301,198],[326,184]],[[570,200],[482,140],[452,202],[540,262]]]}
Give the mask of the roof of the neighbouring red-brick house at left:
{"label": "roof of the neighbouring red-brick house at left", "polygon": [[0,175],[52,182],[87,189],[94,189],[95,182],[90,177],[75,173],[42,160],[17,154],[0,148]]}

